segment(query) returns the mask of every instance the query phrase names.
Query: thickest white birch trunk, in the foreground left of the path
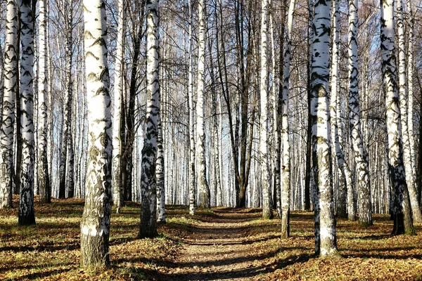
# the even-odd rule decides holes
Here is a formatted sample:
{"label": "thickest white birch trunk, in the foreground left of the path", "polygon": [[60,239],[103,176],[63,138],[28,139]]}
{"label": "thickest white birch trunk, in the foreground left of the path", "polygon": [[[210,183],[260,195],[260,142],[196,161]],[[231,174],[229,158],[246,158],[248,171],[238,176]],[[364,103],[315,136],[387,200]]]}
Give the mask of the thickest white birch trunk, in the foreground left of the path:
{"label": "thickest white birch trunk, in the foreground left of the path", "polygon": [[110,264],[112,129],[108,92],[107,20],[103,0],[84,0],[88,163],[81,222],[81,266]]}

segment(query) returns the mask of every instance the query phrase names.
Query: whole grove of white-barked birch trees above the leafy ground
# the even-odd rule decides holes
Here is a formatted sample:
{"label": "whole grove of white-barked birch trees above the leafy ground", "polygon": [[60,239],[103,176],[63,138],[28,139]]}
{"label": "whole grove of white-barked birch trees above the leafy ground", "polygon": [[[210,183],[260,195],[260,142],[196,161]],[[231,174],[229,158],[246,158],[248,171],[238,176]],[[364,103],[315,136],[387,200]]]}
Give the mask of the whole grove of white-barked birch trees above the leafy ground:
{"label": "whole grove of white-barked birch trees above the leafy ground", "polygon": [[275,216],[283,239],[314,211],[319,256],[337,254],[336,219],[416,233],[417,1],[2,5],[0,209],[27,226],[84,202],[82,266],[110,264],[111,213],[133,206],[140,239],[169,205]]}

